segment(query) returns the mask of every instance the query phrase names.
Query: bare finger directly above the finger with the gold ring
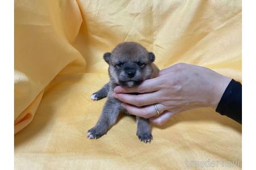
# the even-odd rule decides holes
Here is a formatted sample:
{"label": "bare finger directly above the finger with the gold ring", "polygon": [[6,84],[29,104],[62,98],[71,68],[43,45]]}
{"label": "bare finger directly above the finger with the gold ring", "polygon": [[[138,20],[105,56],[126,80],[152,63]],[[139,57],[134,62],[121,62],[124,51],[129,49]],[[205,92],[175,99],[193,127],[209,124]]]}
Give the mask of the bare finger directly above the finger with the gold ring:
{"label": "bare finger directly above the finger with the gold ring", "polygon": [[155,103],[159,103],[159,92],[144,93],[144,94],[124,94],[124,93],[113,93],[114,98],[135,106],[146,106]]}

